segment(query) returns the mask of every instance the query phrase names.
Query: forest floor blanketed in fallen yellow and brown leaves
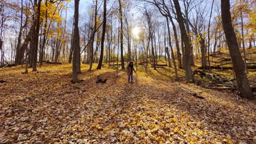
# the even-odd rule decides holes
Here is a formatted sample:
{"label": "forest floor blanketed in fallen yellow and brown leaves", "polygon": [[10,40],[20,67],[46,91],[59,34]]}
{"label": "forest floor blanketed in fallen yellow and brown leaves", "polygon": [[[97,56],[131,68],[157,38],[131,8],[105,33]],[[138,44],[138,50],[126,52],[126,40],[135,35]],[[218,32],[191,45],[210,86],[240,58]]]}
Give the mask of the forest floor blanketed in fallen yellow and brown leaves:
{"label": "forest floor blanketed in fallen yellow and brown leaves", "polygon": [[[133,84],[125,71],[117,78],[107,66],[89,72],[83,64],[84,81],[75,84],[71,64],[45,64],[28,74],[0,69],[7,81],[0,83],[0,143],[256,142],[255,101],[175,81],[168,68],[141,69]],[[96,83],[98,75],[107,83]]]}

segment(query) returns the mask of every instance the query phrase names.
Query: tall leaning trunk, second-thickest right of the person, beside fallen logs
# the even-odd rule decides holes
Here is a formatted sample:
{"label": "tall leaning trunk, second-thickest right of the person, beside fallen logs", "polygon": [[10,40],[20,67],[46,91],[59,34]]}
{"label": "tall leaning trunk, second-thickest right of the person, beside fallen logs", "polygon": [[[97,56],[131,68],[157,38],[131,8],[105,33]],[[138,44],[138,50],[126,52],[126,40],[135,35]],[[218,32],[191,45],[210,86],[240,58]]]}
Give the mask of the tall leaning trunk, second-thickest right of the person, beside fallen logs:
{"label": "tall leaning trunk, second-thickest right of the person, beside fallen logs", "polygon": [[184,22],[183,22],[183,17],[182,17],[182,13],[181,13],[181,7],[179,6],[179,2],[178,2],[178,0],[173,0],[173,3],[175,5],[175,9],[176,9],[179,28],[181,29],[181,37],[182,37],[183,42],[185,44],[184,68],[185,68],[186,80],[187,80],[187,82],[191,82],[191,81],[193,81],[193,75],[192,75],[191,63],[190,63],[191,53],[190,53],[189,38],[188,38],[188,34],[186,32],[185,25],[184,25]]}

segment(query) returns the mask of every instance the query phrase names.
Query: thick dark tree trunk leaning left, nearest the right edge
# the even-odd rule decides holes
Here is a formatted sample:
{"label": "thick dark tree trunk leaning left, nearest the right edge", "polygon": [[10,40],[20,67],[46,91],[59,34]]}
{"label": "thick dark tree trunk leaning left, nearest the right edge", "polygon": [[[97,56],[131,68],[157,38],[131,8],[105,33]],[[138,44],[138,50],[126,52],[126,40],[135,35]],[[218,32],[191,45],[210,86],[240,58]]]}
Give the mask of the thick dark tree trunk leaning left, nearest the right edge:
{"label": "thick dark tree trunk leaning left, nearest the right edge", "polygon": [[245,71],[245,63],[243,63],[241,53],[239,51],[236,34],[232,26],[230,3],[229,0],[221,1],[222,9],[222,25],[226,37],[226,43],[228,43],[229,53],[231,56],[232,65],[235,71],[237,79],[237,87],[241,93],[241,97],[254,99],[252,89],[249,85]]}

